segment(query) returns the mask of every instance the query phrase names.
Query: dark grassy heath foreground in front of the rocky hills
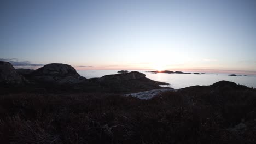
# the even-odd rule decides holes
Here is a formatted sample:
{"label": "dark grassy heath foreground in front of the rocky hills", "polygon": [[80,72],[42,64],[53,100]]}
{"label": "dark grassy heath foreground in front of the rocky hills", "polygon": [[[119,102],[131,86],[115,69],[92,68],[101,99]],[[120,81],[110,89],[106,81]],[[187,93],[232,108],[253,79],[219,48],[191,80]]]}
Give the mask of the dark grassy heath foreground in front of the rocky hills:
{"label": "dark grassy heath foreground in front of the rocky hills", "polygon": [[0,95],[1,143],[255,143],[255,89]]}

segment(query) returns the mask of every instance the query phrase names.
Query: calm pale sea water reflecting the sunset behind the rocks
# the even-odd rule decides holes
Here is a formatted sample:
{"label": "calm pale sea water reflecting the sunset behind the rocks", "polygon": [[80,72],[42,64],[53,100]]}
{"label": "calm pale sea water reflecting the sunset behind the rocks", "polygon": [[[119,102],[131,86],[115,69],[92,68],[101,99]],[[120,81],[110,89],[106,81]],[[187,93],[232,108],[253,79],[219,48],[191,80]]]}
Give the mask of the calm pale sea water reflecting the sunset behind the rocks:
{"label": "calm pale sea water reflecting the sunset behind the rocks", "polygon": [[[118,70],[77,70],[77,72],[87,79],[101,77],[104,75],[118,74]],[[211,85],[215,82],[226,80],[240,85],[256,88],[256,76],[229,76],[229,74],[206,73],[201,75],[195,74],[152,74],[146,70],[136,70],[146,74],[146,77],[155,81],[170,83],[173,88],[184,88],[195,85]]]}

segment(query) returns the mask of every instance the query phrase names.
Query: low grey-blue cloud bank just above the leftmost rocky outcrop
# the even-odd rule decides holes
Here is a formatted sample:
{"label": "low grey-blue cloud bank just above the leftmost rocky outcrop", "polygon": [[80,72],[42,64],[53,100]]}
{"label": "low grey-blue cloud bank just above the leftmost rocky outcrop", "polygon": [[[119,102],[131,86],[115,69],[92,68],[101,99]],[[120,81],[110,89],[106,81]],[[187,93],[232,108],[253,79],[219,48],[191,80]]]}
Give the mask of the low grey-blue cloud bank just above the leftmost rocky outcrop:
{"label": "low grey-blue cloud bank just above the leftmost rocky outcrop", "polygon": [[5,61],[11,63],[13,66],[17,67],[36,67],[43,66],[44,64],[36,64],[30,61],[18,61],[17,58],[0,58],[0,61]]}

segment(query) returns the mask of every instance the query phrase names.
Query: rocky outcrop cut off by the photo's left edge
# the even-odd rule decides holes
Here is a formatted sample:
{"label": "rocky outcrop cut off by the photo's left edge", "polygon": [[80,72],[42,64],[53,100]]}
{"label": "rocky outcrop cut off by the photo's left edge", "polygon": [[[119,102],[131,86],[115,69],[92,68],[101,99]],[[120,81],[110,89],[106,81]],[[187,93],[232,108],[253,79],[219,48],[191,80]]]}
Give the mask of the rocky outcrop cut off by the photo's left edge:
{"label": "rocky outcrop cut off by the photo's left edge", "polygon": [[18,85],[27,82],[9,62],[0,61],[0,83]]}

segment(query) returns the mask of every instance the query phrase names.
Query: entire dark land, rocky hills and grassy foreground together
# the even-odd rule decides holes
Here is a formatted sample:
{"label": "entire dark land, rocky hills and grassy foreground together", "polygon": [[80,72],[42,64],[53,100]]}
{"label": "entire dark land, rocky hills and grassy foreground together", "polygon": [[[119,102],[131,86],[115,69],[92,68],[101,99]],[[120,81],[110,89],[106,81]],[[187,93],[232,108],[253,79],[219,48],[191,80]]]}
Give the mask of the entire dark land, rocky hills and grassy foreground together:
{"label": "entire dark land, rocky hills and grassy foreground together", "polygon": [[256,89],[234,82],[166,89],[137,71],[86,79],[66,64],[0,72],[1,143],[256,141]]}

